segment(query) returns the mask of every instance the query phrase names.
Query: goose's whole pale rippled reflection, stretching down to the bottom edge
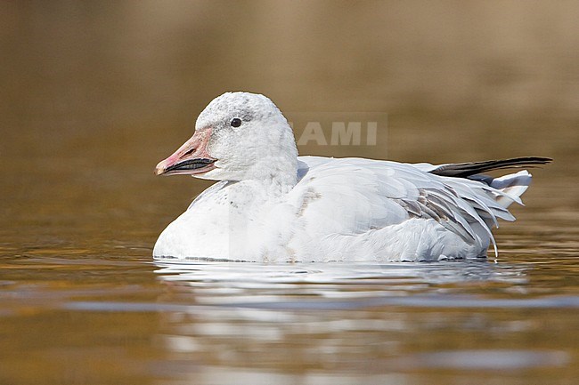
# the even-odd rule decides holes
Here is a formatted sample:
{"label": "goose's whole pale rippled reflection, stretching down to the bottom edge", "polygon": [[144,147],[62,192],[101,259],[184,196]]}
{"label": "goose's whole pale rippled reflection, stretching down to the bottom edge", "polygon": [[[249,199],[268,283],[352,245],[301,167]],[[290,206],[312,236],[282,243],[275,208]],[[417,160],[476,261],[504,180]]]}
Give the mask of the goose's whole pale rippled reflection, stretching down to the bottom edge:
{"label": "goose's whole pale rippled reflection, stretching down to the bottom edge", "polygon": [[[175,355],[171,370],[202,375],[204,383],[220,375],[264,384],[400,383],[392,373],[553,368],[567,364],[567,353],[502,350],[489,342],[493,335],[535,333],[534,321],[485,309],[579,309],[577,297],[513,298],[525,293],[527,268],[487,261],[157,266],[167,285],[159,301],[173,304],[157,342]],[[461,341],[473,339],[481,350],[461,350]],[[295,371],[302,374],[289,375]],[[428,381],[419,376],[416,383]]]}

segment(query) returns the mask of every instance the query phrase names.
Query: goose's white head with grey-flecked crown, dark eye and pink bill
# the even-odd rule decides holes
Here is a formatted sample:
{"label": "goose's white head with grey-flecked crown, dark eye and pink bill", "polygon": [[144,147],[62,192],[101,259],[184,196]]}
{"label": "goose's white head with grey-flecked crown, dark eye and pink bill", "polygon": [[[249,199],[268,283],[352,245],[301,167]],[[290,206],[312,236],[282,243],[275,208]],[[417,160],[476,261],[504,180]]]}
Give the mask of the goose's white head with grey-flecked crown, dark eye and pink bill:
{"label": "goose's white head with grey-flecked crown, dark eye and pink bill", "polygon": [[192,138],[159,162],[155,172],[295,184],[298,149],[290,124],[272,100],[226,92],[200,113]]}

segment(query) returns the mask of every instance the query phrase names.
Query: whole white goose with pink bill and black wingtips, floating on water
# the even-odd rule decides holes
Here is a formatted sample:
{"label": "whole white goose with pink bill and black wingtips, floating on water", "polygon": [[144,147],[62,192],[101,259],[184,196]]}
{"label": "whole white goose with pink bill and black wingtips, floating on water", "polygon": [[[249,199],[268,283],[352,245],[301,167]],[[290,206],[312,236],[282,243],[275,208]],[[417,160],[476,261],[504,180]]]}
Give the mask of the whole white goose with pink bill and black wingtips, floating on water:
{"label": "whole white goose with pink bill and black wingtips, floating on water", "polygon": [[[293,132],[264,95],[227,92],[161,175],[220,180],[167,226],[160,258],[228,261],[436,261],[485,257],[497,220],[514,221],[531,175],[480,175],[545,164],[526,157],[401,164],[298,156]],[[496,253],[496,245],[494,245]]]}

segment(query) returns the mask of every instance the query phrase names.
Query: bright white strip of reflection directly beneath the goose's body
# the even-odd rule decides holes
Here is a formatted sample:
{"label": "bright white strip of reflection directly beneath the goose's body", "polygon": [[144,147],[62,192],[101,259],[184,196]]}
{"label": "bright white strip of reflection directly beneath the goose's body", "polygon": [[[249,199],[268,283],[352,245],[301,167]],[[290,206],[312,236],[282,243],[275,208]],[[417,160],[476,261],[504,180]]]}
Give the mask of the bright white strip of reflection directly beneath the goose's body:
{"label": "bright white strip of reflection directly beneath the goose's body", "polygon": [[[485,259],[474,261],[363,263],[262,264],[236,262],[169,262],[156,261],[156,272],[167,281],[222,281],[269,283],[354,283],[356,280],[403,279],[452,283],[470,280],[502,281],[524,278],[525,268],[493,264]],[[385,282],[380,282],[384,284]]]}

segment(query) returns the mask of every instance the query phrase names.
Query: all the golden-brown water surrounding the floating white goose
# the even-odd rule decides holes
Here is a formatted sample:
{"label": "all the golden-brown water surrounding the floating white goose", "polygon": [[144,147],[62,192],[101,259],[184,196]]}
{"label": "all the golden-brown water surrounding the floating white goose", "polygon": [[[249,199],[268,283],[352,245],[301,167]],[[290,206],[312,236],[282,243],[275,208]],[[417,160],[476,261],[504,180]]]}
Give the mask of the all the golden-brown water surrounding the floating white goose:
{"label": "all the golden-brown water surrounding the floating white goose", "polygon": [[[270,5],[0,5],[0,383],[575,384],[576,6]],[[303,154],[555,162],[496,261],[156,264],[209,182],[152,169],[232,89],[387,113]]]}

